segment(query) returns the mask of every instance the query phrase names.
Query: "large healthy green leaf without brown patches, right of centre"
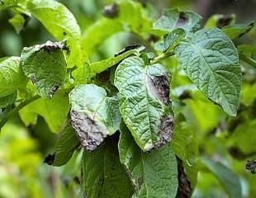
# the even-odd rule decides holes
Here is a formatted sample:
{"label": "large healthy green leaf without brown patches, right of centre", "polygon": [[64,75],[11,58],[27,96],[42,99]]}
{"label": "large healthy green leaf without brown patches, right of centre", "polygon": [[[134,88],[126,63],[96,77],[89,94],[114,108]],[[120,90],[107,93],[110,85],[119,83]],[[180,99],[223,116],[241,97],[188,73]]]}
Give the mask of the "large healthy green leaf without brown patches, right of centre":
{"label": "large healthy green leaf without brown patches, right of centre", "polygon": [[235,45],[219,29],[202,29],[174,49],[179,64],[201,92],[236,115],[241,68]]}

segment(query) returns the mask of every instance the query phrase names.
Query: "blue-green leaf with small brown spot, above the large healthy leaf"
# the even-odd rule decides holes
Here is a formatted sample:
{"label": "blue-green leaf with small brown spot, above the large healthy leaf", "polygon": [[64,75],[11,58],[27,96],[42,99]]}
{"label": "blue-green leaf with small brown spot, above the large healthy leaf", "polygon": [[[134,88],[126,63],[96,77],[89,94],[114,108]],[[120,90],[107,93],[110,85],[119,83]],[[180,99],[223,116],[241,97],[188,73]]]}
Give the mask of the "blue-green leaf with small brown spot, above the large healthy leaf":
{"label": "blue-green leaf with small brown spot, above the large healthy leaf", "polygon": [[178,8],[165,9],[164,14],[153,24],[156,31],[171,32],[182,28],[187,32],[194,32],[200,28],[201,16],[191,11],[181,11]]}

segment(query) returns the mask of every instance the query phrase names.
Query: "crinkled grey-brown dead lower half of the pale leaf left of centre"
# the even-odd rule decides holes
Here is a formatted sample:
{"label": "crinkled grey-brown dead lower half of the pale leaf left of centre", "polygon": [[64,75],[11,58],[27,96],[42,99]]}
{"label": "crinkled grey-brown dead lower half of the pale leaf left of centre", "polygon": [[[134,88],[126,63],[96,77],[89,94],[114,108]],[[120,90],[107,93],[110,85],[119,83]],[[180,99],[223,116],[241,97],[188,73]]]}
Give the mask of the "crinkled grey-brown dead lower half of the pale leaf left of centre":
{"label": "crinkled grey-brown dead lower half of the pale leaf left of centre", "polygon": [[88,115],[82,112],[70,111],[71,125],[78,134],[83,147],[88,151],[93,151],[107,137],[107,132],[97,125]]}

